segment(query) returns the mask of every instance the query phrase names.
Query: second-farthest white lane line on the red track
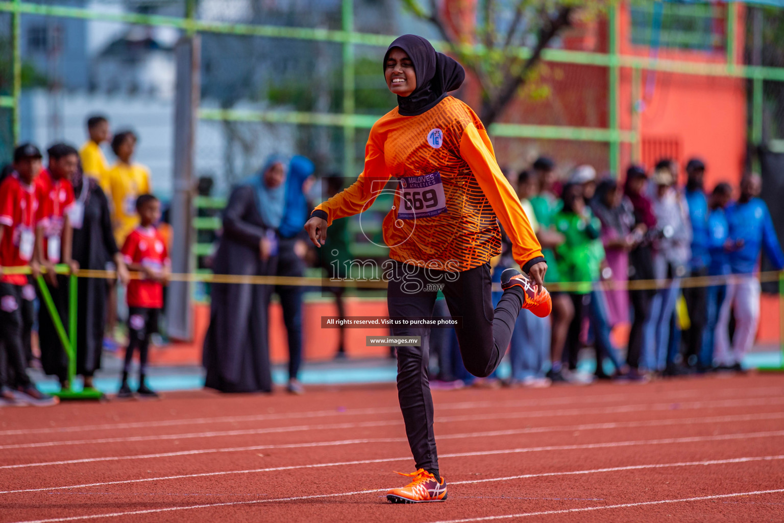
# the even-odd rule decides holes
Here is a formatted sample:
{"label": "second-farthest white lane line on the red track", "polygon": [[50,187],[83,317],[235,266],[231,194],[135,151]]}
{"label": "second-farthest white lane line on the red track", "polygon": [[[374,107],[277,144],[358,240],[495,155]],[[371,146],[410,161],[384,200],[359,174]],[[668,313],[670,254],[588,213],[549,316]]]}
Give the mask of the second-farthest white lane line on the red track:
{"label": "second-farthest white lane line on the red track", "polygon": [[[748,406],[760,406],[760,405],[781,405],[782,403],[784,403],[784,397],[750,398],[745,400],[689,401],[689,402],[683,402],[677,404],[655,403],[655,404],[640,404],[640,405],[618,405],[612,407],[600,407],[597,409],[563,409],[563,410],[543,410],[543,411],[535,411],[535,412],[530,412],[530,411],[497,412],[491,414],[474,414],[470,416],[438,416],[435,418],[435,421],[438,423],[455,423],[460,421],[480,421],[484,419],[584,416],[586,414],[615,414],[615,413],[628,413],[628,412],[693,410],[693,409],[706,409],[706,408],[718,409],[718,408],[748,407]],[[216,430],[210,432],[192,432],[187,434],[157,434],[157,435],[147,435],[147,436],[127,436],[125,438],[40,441],[37,443],[16,443],[12,445],[0,445],[0,450],[37,449],[40,447],[54,447],[60,445],[96,445],[99,443],[129,443],[132,441],[219,438],[219,437],[227,437],[227,436],[249,436],[249,435],[256,435],[256,434],[299,432],[303,430],[339,430],[339,429],[351,429],[351,428],[361,428],[361,427],[384,427],[390,425],[399,425],[401,423],[402,423],[401,419],[397,418],[397,419],[381,420],[381,421],[363,421],[357,423],[325,423],[320,425],[297,425],[294,427],[266,427],[260,429]]]}

